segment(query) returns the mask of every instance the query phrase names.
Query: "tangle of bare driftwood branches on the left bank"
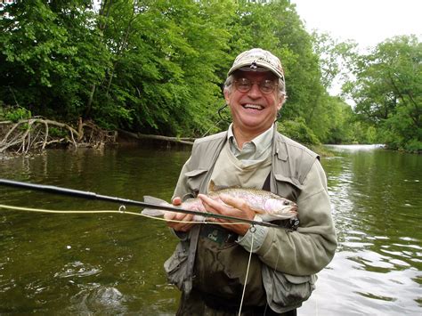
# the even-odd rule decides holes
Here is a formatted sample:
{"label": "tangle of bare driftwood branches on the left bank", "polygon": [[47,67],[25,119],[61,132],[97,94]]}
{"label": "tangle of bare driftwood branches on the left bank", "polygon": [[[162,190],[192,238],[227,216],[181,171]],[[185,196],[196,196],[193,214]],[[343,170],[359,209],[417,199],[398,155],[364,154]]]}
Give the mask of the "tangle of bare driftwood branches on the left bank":
{"label": "tangle of bare driftwood branches on the left bank", "polygon": [[116,142],[116,138],[117,132],[104,131],[92,122],[82,122],[82,119],[79,119],[77,128],[44,117],[0,122],[0,154],[28,154],[29,151],[45,150],[54,144],[76,149],[101,149],[106,142]]}

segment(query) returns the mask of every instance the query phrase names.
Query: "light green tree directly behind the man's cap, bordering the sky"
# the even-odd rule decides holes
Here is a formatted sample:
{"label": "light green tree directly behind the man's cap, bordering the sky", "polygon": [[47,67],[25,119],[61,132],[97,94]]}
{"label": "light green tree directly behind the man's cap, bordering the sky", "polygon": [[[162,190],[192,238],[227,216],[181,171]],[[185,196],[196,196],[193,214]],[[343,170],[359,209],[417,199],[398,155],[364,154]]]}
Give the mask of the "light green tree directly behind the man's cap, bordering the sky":
{"label": "light green tree directly behind the man's cap, bordering the sky", "polygon": [[[311,134],[307,142],[318,141],[324,113],[324,86],[318,56],[312,49],[312,36],[296,12],[294,4],[277,1],[270,4],[239,2],[236,20],[231,26],[231,50],[234,54],[261,47],[280,57],[285,70],[288,99],[280,124],[306,126]],[[322,126],[328,126],[323,125]],[[281,128],[283,129],[283,128]],[[300,129],[304,131],[304,129]],[[317,137],[314,137],[317,135]]]}

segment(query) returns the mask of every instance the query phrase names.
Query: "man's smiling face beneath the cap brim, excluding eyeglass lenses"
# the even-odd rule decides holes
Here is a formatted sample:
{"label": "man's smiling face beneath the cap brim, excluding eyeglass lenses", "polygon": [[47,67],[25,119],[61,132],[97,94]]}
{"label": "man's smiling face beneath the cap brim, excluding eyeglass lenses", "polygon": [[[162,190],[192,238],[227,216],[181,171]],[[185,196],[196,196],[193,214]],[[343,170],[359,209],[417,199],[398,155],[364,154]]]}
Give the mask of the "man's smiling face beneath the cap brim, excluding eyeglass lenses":
{"label": "man's smiling face beneath the cap brim, excluding eyeglass lenses", "polygon": [[258,135],[272,126],[284,97],[280,97],[278,85],[268,94],[263,93],[258,86],[264,80],[278,83],[278,78],[271,71],[238,71],[235,79],[239,83],[241,78],[254,83],[251,89],[248,92],[240,92],[236,88],[236,83],[233,83],[231,91],[226,91],[224,97],[231,109],[234,129],[239,129],[240,133]]}

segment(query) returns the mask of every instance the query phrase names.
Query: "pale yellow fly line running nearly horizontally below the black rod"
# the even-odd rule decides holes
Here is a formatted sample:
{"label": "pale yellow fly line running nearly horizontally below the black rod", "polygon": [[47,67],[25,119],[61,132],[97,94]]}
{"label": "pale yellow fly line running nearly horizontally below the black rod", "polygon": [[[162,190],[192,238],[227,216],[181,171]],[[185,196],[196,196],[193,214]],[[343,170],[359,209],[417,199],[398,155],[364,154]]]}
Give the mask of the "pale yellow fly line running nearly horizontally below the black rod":
{"label": "pale yellow fly line running nearly horizontally below the black rod", "polygon": [[[191,222],[191,221],[176,221],[176,220],[167,220],[161,217],[154,217],[150,215],[144,215],[142,213],[128,212],[126,207],[118,207],[118,210],[114,209],[105,209],[105,210],[58,210],[58,209],[44,209],[44,208],[29,208],[29,207],[14,207],[4,204],[0,204],[0,208],[12,209],[15,211],[26,211],[26,212],[37,212],[37,213],[53,213],[53,214],[101,214],[101,213],[118,213],[118,214],[127,214],[127,215],[137,215],[147,218],[151,218],[158,221],[173,222],[173,223],[210,223],[209,221],[204,222]],[[212,222],[211,222],[212,223]],[[220,225],[236,225],[239,223],[218,223]]]}

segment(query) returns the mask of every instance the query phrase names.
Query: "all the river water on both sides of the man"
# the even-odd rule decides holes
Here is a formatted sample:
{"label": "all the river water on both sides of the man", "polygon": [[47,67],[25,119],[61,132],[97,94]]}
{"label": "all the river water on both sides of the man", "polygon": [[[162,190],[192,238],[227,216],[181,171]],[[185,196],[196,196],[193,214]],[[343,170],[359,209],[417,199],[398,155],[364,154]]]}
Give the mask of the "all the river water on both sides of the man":
{"label": "all the river water on both sides of the man", "polygon": [[[422,157],[334,146],[322,158],[339,247],[299,315],[422,313]],[[142,200],[170,199],[189,150],[49,150],[0,160],[0,178]],[[61,210],[118,205],[0,187],[0,204]],[[139,211],[127,207],[128,211]],[[0,314],[171,315],[179,292],[162,264],[175,239],[127,214],[0,208]]]}

